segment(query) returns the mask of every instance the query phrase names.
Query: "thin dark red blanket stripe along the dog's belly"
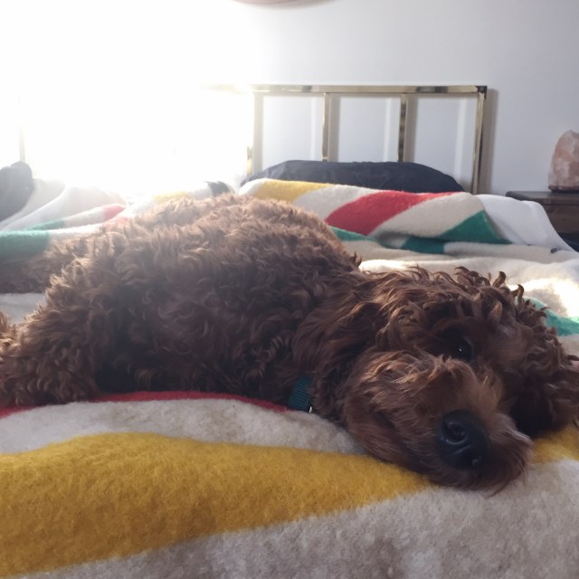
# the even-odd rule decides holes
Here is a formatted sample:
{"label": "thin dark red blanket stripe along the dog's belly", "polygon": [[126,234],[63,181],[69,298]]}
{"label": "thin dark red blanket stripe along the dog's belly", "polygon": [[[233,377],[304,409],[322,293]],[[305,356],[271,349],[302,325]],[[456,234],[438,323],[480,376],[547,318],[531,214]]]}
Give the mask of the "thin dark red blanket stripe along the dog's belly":
{"label": "thin dark red blanket stripe along the dog's belly", "polygon": [[[130,392],[128,394],[109,394],[106,396],[99,396],[86,402],[100,403],[100,402],[149,402],[149,401],[164,401],[164,400],[236,400],[242,403],[254,404],[261,406],[278,413],[285,413],[289,411],[286,406],[258,400],[256,398],[247,398],[246,396],[237,396],[235,394],[214,394],[211,392],[197,392],[197,391],[168,391],[168,392]],[[0,408],[0,418],[10,416],[14,413],[22,413],[27,410],[33,410],[39,406],[11,406],[9,408]]]}

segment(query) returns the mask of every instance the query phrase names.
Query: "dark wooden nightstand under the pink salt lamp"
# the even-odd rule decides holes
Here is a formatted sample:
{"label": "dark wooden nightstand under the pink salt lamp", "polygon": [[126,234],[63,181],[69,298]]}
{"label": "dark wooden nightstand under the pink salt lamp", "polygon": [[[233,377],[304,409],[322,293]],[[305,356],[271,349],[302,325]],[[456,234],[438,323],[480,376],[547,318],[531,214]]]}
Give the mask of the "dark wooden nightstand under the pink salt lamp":
{"label": "dark wooden nightstand under the pink salt lamp", "polygon": [[566,239],[579,241],[579,192],[508,191],[507,196],[543,205],[555,232]]}

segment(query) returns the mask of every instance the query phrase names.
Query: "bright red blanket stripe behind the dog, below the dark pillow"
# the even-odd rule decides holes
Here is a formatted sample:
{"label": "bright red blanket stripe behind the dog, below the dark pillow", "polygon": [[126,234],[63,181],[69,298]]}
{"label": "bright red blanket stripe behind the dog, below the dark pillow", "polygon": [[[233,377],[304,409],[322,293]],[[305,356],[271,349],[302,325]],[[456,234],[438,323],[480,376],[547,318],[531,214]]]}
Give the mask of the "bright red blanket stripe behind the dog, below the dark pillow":
{"label": "bright red blanket stripe behind the dog, below the dark pillow", "polygon": [[327,216],[326,222],[328,225],[345,229],[348,232],[368,235],[380,223],[384,223],[414,205],[430,201],[435,197],[455,195],[455,193],[417,194],[403,191],[378,191],[338,207]]}

